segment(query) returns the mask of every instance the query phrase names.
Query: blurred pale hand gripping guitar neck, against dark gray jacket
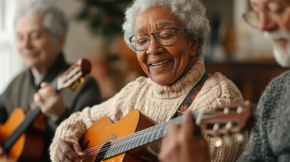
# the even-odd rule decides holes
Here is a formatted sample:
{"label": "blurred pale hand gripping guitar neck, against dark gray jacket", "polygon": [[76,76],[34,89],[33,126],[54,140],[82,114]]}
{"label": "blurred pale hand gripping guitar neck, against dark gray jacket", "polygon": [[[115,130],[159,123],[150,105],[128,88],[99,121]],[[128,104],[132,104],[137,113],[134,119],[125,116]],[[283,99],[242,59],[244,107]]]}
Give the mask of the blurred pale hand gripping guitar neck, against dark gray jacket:
{"label": "blurred pale hand gripping guitar neck, against dark gray jacket", "polygon": [[33,96],[35,104],[40,107],[42,113],[49,115],[52,120],[57,120],[66,110],[61,92],[56,93],[47,82],[42,82],[40,87]]}

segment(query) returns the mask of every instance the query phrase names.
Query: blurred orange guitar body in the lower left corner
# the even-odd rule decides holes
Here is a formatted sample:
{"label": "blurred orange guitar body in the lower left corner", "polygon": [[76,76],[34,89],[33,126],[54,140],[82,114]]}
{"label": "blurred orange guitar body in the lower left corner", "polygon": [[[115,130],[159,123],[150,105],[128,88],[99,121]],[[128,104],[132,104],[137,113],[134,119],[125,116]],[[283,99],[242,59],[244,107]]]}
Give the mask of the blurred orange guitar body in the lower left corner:
{"label": "blurred orange guitar body in the lower left corner", "polygon": [[[25,119],[26,113],[15,108],[6,123],[0,125],[0,143],[3,143]],[[39,115],[32,125],[22,133],[13,144],[7,155],[17,161],[38,161],[44,148],[44,132],[46,129],[43,115]]]}

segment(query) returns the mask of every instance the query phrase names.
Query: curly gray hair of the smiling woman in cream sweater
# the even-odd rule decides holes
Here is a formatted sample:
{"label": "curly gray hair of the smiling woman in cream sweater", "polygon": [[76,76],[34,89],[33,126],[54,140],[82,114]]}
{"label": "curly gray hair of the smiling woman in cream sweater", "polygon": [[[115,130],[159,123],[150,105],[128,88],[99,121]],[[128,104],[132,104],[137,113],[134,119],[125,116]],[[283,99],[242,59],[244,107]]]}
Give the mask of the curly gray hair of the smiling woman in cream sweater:
{"label": "curly gray hair of the smiling woman in cream sweater", "polygon": [[156,6],[174,14],[182,22],[187,38],[199,40],[196,56],[201,56],[211,29],[205,12],[206,8],[201,0],[133,0],[125,10],[125,21],[122,25],[124,39],[129,48],[135,51],[128,38],[135,34],[138,14]]}

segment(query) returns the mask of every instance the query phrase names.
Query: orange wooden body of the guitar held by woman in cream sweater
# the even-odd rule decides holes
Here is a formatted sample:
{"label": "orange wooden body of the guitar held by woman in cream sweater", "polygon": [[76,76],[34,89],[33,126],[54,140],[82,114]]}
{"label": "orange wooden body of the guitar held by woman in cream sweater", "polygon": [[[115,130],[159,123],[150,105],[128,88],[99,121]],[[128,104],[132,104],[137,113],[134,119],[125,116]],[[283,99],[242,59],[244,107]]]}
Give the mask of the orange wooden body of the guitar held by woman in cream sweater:
{"label": "orange wooden body of the guitar held by woman in cream sweater", "polygon": [[[87,161],[102,161],[102,157],[96,159],[96,157],[101,156],[98,153],[99,150],[106,149],[107,142],[131,135],[134,132],[155,126],[158,123],[153,121],[146,115],[135,109],[124,116],[117,123],[112,123],[108,117],[102,117],[97,120],[85,133],[84,137],[79,142],[81,148],[87,150],[85,152],[86,157],[81,160],[81,162]],[[102,148],[93,150],[97,146],[103,146]],[[119,154],[115,157],[106,159],[106,162],[132,162],[132,161],[157,161],[156,153],[152,153],[151,149],[148,147],[155,146],[150,144],[144,145],[134,150],[130,150],[126,153]],[[89,150],[90,149],[90,150]],[[104,155],[104,153],[102,154]]]}

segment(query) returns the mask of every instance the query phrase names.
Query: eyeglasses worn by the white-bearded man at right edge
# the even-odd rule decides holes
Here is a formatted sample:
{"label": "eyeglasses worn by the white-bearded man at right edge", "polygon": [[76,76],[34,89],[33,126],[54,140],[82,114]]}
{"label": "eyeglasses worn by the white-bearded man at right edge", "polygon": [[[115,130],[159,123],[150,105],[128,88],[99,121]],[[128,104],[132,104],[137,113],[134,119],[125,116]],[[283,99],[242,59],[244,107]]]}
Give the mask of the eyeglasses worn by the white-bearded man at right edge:
{"label": "eyeglasses worn by the white-bearded man at right edge", "polygon": [[[290,14],[289,4],[284,0],[277,0],[275,2],[278,2],[280,4],[281,7],[279,9],[270,10],[270,8],[267,7],[266,9],[260,11],[250,10],[247,13],[243,14],[243,18],[249,25],[255,28],[258,28],[259,26],[261,14],[264,14],[271,21],[277,22],[283,20],[285,16]],[[270,2],[268,2],[268,4],[270,4]]]}

